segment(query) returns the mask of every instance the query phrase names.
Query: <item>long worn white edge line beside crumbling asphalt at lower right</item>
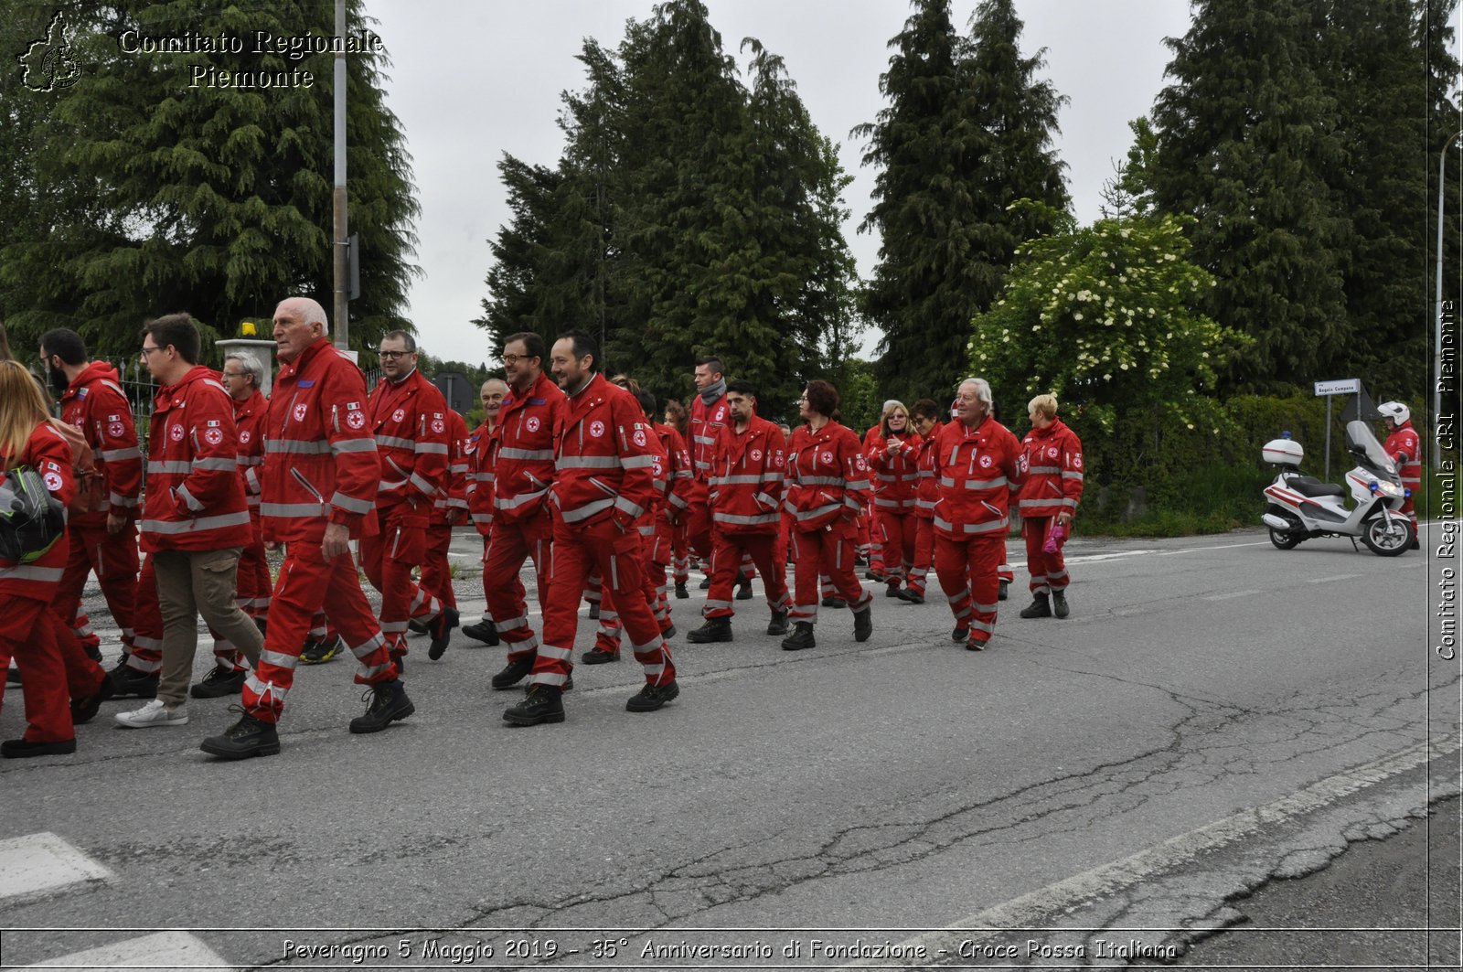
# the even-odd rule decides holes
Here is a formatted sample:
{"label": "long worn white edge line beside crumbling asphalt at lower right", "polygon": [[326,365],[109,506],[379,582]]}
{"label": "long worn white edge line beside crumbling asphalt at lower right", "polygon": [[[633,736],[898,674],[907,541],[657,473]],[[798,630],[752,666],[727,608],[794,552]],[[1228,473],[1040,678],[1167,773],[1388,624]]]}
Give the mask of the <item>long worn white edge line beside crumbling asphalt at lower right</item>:
{"label": "long worn white edge line beside crumbling asphalt at lower right", "polygon": [[[1251,807],[1238,814],[1216,820],[1211,824],[1170,837],[1147,850],[1140,850],[1121,861],[1074,874],[1048,884],[1021,897],[988,908],[983,912],[961,918],[941,931],[925,932],[901,943],[906,949],[925,946],[930,956],[941,956],[942,949],[951,949],[954,941],[980,941],[993,938],[1005,930],[1045,928],[1062,913],[1086,903],[1102,900],[1125,889],[1143,884],[1163,872],[1188,864],[1207,850],[1235,843],[1261,830],[1285,824],[1289,820],[1320,810],[1343,796],[1356,793],[1428,763],[1451,755],[1463,748],[1459,739],[1444,742],[1419,742],[1400,752],[1358,766],[1346,773],[1337,773],[1305,789],[1283,796],[1264,807]],[[947,953],[948,954],[948,953]],[[856,962],[847,968],[875,965]]]}

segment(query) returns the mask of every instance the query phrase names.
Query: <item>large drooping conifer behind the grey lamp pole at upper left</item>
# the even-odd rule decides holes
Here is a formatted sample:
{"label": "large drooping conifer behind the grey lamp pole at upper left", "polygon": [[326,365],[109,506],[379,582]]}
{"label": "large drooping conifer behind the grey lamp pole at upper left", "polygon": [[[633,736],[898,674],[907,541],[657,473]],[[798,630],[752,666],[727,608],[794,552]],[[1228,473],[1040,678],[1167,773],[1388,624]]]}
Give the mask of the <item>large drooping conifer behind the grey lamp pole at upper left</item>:
{"label": "large drooping conifer behind the grey lamp pole at upper left", "polygon": [[[138,53],[124,31],[168,37],[334,34],[329,9],[165,3],[66,7],[73,86],[47,98],[29,130],[26,182],[42,211],[0,250],[10,324],[64,324],[102,353],[136,347],[138,322],[186,309],[218,331],[269,313],[288,294],[331,293],[331,54]],[[361,19],[353,0],[351,16]],[[361,237],[353,343],[401,318],[418,212],[401,124],[386,108],[379,59],[347,59],[351,230]],[[312,72],[315,83],[243,88],[218,72]],[[202,72],[202,73],[199,73]],[[202,78],[202,81],[199,81]],[[85,193],[80,189],[85,187]],[[86,205],[73,205],[80,199]],[[408,325],[410,326],[410,325]]]}

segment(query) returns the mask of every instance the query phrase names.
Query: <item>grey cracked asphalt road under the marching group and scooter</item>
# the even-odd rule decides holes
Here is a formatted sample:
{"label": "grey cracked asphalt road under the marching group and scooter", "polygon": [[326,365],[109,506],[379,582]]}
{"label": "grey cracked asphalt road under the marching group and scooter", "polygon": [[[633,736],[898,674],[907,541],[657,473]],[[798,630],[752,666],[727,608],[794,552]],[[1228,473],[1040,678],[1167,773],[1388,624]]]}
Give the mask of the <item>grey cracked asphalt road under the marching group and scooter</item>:
{"label": "grey cracked asphalt road under the marching group and scooter", "polygon": [[[474,562],[471,537],[458,555]],[[1443,562],[1344,540],[1280,552],[1257,531],[1077,537],[1068,555],[1072,616],[1021,621],[1015,590],[985,653],[949,641],[938,594],[878,597],[865,644],[825,610],[802,653],[762,634],[761,600],[737,602],[733,644],[674,641],[682,695],[651,714],[625,711],[626,654],[576,669],[565,723],[511,729],[514,695],[487,689],[500,651],[462,635],[436,663],[417,648],[417,714],[376,736],[345,730],[361,710],[345,662],[301,668],[263,760],[198,751],[234,719],[227,700],[149,730],[114,729],[136,703],[108,703],[75,757],[0,766],[0,962],[1189,960],[1257,889],[1359,840],[1403,846],[1457,795]],[[459,590],[475,618],[477,581]],[[693,594],[673,603],[682,632]],[[578,648],[591,640],[581,624]],[[63,858],[37,848],[101,870],[44,889]],[[1457,925],[1429,894],[1396,909],[1388,928]],[[1309,962],[1410,962],[1355,930],[1378,924],[1342,899],[1279,934]]]}

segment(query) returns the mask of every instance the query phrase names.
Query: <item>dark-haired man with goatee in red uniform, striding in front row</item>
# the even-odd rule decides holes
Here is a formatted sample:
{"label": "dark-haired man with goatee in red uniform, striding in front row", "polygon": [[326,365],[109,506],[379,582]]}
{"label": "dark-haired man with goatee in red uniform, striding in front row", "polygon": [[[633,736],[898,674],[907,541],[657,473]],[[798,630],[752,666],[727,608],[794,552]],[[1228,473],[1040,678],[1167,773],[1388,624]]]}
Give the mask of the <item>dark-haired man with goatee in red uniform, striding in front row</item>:
{"label": "dark-haired man with goatee in red uniform, striding in front row", "polygon": [[609,581],[635,660],[645,669],[645,687],[625,707],[655,711],[680,694],[670,650],[642,593],[635,530],[655,498],[655,433],[639,401],[597,373],[598,354],[594,338],[576,331],[553,345],[553,373],[569,400],[554,430],[554,565],[528,694],[503,713],[516,726],[563,722],[579,594],[593,572]]}

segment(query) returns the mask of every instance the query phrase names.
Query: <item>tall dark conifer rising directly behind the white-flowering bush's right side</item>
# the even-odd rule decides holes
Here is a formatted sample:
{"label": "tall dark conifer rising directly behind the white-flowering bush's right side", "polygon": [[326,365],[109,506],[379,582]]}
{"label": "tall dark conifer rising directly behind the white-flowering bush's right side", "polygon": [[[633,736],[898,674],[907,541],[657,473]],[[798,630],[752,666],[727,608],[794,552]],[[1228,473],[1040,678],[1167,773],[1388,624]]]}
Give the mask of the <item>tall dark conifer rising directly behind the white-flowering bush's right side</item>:
{"label": "tall dark conifer rising directly behind the white-flowering bush's right side", "polygon": [[1230,388],[1331,376],[1350,335],[1336,253],[1347,224],[1330,187],[1344,154],[1314,67],[1318,28],[1308,0],[1198,0],[1169,40],[1150,179],[1160,209],[1198,218],[1210,316],[1254,338]]}

